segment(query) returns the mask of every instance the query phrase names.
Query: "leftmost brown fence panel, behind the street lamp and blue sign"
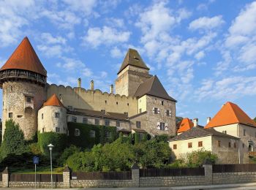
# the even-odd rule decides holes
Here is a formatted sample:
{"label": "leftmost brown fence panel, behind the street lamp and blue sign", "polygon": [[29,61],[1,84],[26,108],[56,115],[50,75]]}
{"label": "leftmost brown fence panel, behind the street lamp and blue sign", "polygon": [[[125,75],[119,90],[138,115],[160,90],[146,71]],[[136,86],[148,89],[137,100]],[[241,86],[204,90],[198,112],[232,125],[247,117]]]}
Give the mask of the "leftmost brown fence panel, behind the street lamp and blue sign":
{"label": "leftmost brown fence panel, behind the street lamp and blue sign", "polygon": [[[35,181],[34,174],[10,174],[10,181]],[[37,182],[50,182],[50,174],[37,174]],[[53,174],[53,182],[63,182],[62,174]]]}

